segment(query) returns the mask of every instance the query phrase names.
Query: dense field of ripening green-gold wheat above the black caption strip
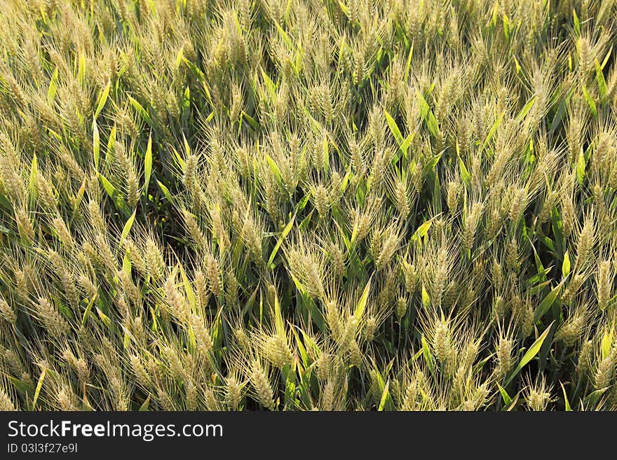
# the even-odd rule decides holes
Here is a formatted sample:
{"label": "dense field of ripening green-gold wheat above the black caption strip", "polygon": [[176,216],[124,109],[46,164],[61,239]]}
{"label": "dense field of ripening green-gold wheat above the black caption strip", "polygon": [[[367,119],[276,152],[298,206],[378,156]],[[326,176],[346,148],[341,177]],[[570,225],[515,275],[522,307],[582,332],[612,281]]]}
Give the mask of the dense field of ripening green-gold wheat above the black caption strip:
{"label": "dense field of ripening green-gold wheat above the black caption strip", "polygon": [[617,408],[613,0],[0,1],[0,408]]}

